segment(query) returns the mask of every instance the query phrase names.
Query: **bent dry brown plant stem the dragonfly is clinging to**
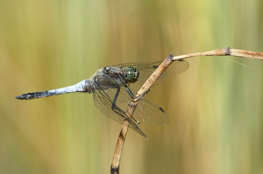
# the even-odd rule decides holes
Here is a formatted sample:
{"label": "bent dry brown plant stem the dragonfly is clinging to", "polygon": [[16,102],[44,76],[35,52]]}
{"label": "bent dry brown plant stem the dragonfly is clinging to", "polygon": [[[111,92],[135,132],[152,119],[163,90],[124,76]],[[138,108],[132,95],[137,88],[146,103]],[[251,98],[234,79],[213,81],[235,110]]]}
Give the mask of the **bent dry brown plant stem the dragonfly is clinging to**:
{"label": "bent dry brown plant stem the dragonfly is clinging to", "polygon": [[[255,51],[232,49],[231,47],[216,49],[216,50],[202,52],[202,53],[186,54],[183,56],[176,56],[176,57],[174,57],[173,54],[170,54],[165,59],[165,61],[163,61],[163,63],[155,70],[155,72],[149,77],[149,79],[144,83],[144,85],[141,87],[141,89],[136,94],[135,99],[133,99],[129,103],[127,107],[127,111],[126,111],[126,117],[129,117],[129,118],[132,117],[132,114],[136,108],[136,105],[141,99],[141,97],[138,97],[138,96],[140,94],[144,95],[150,89],[153,83],[158,79],[158,77],[160,77],[160,75],[166,70],[166,68],[173,61],[179,60],[182,58],[195,57],[195,56],[238,56],[238,57],[247,57],[247,58],[263,60],[263,53],[255,52]],[[122,148],[123,148],[124,140],[125,140],[126,133],[128,130],[128,125],[129,125],[129,122],[127,120],[124,120],[122,129],[121,129],[118,141],[117,141],[117,145],[115,148],[114,156],[113,156],[113,162],[111,165],[111,173],[115,173],[115,174],[119,173]]]}

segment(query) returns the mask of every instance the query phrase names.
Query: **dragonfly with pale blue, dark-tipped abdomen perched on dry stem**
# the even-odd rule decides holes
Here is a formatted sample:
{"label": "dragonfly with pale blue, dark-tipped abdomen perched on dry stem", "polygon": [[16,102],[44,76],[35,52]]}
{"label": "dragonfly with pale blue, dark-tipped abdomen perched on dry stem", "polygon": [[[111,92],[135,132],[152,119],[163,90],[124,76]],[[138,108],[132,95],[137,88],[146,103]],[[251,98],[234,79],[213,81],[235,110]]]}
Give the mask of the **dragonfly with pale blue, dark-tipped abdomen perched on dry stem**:
{"label": "dragonfly with pale blue, dark-tipped abdomen perched on dry stem", "polygon": [[[93,93],[94,104],[99,111],[109,116],[118,123],[123,124],[124,120],[142,136],[146,135],[138,127],[137,119],[157,124],[167,125],[169,118],[164,110],[149,99],[139,95],[140,101],[137,104],[131,118],[125,115],[129,102],[135,98],[136,92],[142,87],[144,82],[162,63],[127,63],[115,66],[107,66],[97,70],[89,79],[83,80],[76,85],[53,89],[42,92],[22,94],[16,99],[30,100],[53,95],[86,92]],[[188,69],[187,61],[174,61],[165,72],[158,78],[153,86],[160,84],[165,78],[182,73]],[[147,137],[146,137],[147,138]]]}

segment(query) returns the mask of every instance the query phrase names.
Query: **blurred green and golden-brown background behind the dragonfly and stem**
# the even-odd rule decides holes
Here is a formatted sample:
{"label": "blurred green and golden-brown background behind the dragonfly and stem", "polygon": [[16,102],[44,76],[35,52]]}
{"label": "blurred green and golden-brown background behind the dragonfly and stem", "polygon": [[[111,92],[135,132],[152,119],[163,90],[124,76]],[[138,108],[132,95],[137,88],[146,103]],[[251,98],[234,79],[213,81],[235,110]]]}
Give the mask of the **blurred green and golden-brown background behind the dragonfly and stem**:
{"label": "blurred green and golden-brown background behind the dragonfly and stem", "polygon": [[[263,52],[262,0],[1,1],[0,173],[110,173],[121,128],[93,94],[15,96],[227,46]],[[263,173],[263,62],[186,60],[146,95],[169,125],[129,130],[120,173]]]}

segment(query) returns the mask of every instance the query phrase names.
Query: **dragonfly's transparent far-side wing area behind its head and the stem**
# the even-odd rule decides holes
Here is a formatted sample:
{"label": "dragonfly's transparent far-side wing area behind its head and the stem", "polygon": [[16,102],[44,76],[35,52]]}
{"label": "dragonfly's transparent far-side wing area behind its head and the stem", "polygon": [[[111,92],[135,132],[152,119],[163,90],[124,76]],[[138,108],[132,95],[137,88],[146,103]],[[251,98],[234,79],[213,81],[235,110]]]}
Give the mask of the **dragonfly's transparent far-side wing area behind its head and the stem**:
{"label": "dragonfly's transparent far-side wing area behind its head and the stem", "polygon": [[[133,89],[134,92],[138,92],[139,89],[142,87],[142,85],[146,82],[146,80],[150,77],[150,75],[152,75],[152,73],[156,70],[156,68],[160,66],[161,63],[162,61],[153,62],[153,63],[126,63],[116,66],[123,66],[123,67],[132,66],[139,70],[139,78],[137,82],[129,84],[130,88]],[[152,87],[157,86],[167,77],[171,77],[173,75],[177,75],[186,71],[188,67],[189,64],[187,61],[184,61],[182,59],[174,61],[159,77],[159,79],[153,84]]]}

